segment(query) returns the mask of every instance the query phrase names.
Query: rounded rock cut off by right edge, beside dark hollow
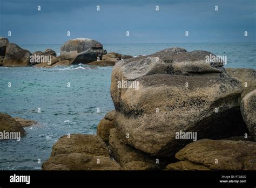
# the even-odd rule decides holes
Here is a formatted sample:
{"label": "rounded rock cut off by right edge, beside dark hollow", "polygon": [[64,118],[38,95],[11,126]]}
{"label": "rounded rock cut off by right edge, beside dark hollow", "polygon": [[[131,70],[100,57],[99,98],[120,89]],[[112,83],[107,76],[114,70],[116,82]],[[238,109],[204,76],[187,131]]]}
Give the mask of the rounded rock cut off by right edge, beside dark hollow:
{"label": "rounded rock cut off by right edge, beside dark hollow", "polygon": [[256,89],[242,98],[241,113],[250,135],[256,141]]}

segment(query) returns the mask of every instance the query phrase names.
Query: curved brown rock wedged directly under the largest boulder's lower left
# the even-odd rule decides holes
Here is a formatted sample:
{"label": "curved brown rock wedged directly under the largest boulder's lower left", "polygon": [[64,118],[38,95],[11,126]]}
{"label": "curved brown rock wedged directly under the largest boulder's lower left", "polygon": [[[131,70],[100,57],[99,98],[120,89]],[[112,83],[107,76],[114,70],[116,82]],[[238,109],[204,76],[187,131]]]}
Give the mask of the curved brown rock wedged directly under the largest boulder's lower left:
{"label": "curved brown rock wedged directly under the largest boulder's lower left", "polygon": [[168,164],[166,159],[152,157],[123,143],[116,129],[110,130],[109,142],[110,154],[125,170],[159,170]]}

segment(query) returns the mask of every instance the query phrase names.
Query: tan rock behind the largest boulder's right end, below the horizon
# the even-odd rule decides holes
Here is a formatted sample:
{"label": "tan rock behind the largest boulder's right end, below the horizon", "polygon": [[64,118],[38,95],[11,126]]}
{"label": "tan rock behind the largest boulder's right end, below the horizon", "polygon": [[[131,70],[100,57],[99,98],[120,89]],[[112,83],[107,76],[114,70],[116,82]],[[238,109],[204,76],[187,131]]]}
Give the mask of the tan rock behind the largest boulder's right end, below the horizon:
{"label": "tan rock behind the largest boulder's right end, below the horizon", "polygon": [[247,93],[256,89],[256,72],[252,68],[226,68],[227,74],[242,83],[244,91],[241,94],[241,99]]}

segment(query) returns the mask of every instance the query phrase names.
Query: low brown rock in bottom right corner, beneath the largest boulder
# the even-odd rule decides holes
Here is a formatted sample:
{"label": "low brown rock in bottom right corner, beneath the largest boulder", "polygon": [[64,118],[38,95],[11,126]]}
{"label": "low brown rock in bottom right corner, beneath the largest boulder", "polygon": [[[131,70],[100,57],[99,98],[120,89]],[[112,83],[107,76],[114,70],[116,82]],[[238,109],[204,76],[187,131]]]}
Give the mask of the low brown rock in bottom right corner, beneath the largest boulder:
{"label": "low brown rock in bottom right corner, beneath the largest boulder", "polygon": [[185,165],[178,162],[168,165],[167,169],[191,170],[195,167],[189,166],[196,163],[198,170],[256,170],[255,155],[255,142],[203,139],[177,152],[176,158],[185,161]]}

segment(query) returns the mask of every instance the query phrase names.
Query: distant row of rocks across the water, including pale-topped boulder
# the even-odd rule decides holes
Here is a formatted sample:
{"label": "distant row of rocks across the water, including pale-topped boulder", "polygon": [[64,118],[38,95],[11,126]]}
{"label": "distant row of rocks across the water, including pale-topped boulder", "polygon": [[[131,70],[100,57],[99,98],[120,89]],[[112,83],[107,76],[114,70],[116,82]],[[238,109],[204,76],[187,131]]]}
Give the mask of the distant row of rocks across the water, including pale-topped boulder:
{"label": "distant row of rocks across the water, including pale-topped boulder", "polygon": [[121,59],[133,58],[116,52],[107,53],[103,45],[96,40],[77,38],[66,41],[60,47],[60,56],[51,49],[44,52],[30,52],[8,38],[0,37],[0,66],[24,67],[35,66],[51,68],[56,66],[70,66],[86,64],[93,66],[114,66]]}

